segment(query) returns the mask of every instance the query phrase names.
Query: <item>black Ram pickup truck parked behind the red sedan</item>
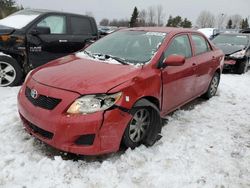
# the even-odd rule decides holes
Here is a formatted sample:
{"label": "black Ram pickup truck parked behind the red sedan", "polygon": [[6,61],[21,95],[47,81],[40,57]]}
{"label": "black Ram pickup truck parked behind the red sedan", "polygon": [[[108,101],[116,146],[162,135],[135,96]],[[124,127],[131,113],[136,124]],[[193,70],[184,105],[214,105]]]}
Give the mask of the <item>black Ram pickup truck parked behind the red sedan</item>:
{"label": "black Ram pickup truck parked behind the red sedan", "polygon": [[33,68],[82,49],[98,38],[94,18],[22,10],[0,20],[0,86],[15,86]]}

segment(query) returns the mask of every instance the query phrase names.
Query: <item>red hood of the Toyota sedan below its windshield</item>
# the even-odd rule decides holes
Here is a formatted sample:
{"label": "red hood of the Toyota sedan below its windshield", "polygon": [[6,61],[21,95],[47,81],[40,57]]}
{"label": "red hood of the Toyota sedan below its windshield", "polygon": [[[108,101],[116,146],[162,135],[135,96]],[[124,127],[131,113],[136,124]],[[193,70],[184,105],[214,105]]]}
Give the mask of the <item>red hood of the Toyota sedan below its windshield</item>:
{"label": "red hood of the Toyota sedan below its windshield", "polygon": [[141,68],[108,64],[69,55],[39,67],[32,78],[39,83],[80,94],[106,93],[135,77]]}

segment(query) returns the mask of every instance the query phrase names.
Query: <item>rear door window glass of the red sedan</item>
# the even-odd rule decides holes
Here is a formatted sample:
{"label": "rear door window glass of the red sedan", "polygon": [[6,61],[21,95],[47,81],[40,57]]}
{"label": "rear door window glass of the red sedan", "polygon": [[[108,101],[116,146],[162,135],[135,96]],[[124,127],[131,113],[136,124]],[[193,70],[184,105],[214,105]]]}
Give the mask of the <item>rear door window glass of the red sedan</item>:
{"label": "rear door window glass of the red sedan", "polygon": [[195,46],[195,55],[199,55],[211,50],[204,37],[199,35],[192,35],[192,40]]}

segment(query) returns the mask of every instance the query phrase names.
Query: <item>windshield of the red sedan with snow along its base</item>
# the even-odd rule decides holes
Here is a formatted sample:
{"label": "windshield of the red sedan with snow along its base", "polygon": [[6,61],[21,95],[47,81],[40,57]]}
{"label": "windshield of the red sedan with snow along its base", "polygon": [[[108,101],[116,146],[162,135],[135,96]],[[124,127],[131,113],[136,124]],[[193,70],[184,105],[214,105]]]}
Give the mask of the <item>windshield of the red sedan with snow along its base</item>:
{"label": "windshield of the red sedan with snow along its base", "polygon": [[160,32],[118,31],[95,42],[85,51],[141,64],[151,60],[165,36],[166,33]]}

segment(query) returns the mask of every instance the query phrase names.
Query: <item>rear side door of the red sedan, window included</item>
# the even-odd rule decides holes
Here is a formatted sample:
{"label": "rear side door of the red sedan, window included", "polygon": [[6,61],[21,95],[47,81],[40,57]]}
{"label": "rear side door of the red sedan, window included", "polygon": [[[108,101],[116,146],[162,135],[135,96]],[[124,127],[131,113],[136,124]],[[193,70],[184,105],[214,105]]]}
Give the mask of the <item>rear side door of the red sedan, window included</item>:
{"label": "rear side door of the red sedan, window included", "polygon": [[195,63],[195,94],[199,95],[207,90],[211,80],[212,71],[218,59],[215,58],[214,52],[206,38],[199,34],[191,35],[194,46],[194,63]]}

